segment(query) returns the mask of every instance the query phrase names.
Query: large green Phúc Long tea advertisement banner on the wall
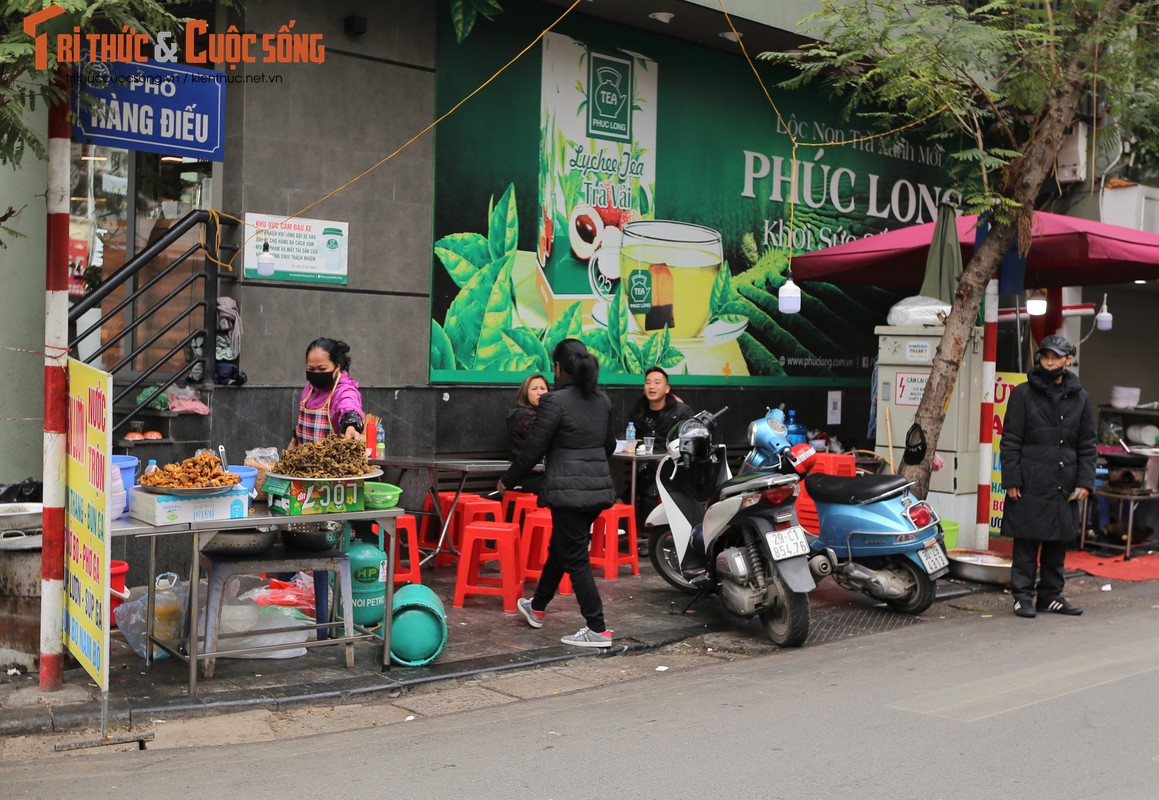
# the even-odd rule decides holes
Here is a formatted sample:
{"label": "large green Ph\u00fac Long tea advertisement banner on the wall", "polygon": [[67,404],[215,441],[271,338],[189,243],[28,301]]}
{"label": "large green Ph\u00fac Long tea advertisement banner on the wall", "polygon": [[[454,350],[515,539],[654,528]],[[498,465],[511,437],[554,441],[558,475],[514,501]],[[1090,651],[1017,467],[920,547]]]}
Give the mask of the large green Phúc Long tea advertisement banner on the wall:
{"label": "large green Ph\u00fac Long tea advertisement banner on the wall", "polygon": [[[504,10],[461,43],[444,13],[439,114],[554,19]],[[779,118],[739,53],[583,15],[556,31],[439,125],[432,383],[549,374],[578,337],[608,384],[658,364],[701,385],[865,385],[901,294],[810,282],[781,313],[788,254],[933,220],[956,195],[942,150],[865,139],[758,61]],[[790,133],[817,145],[795,169]]]}

